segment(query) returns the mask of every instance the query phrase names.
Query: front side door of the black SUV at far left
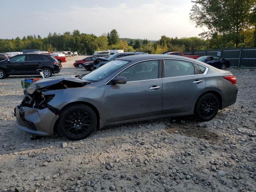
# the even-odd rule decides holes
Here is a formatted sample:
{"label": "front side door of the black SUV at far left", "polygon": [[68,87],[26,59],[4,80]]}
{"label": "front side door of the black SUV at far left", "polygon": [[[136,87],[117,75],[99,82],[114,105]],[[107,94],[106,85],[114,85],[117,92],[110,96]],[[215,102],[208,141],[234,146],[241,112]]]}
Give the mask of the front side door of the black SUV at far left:
{"label": "front side door of the black SUV at far left", "polygon": [[26,72],[26,55],[17,55],[5,61],[6,70],[10,74]]}

